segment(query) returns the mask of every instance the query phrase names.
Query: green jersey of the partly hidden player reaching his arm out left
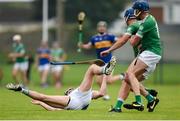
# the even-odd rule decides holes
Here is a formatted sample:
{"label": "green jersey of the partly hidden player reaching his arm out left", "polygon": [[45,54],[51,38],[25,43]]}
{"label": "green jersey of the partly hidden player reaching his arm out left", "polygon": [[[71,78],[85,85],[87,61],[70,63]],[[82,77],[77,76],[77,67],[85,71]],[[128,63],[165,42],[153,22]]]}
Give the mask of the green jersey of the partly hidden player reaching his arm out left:
{"label": "green jersey of the partly hidden player reaching his arm out left", "polygon": [[[127,30],[126,30],[126,34],[128,35],[135,35],[136,32],[139,30],[139,27],[140,27],[140,22],[134,22],[133,24],[129,25]],[[136,46],[133,47],[133,50],[134,50],[134,56],[137,57],[137,55],[139,54],[139,49],[138,49],[138,46],[140,45],[141,43],[139,42]]]}

